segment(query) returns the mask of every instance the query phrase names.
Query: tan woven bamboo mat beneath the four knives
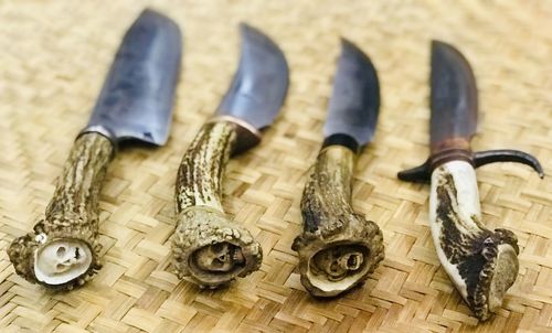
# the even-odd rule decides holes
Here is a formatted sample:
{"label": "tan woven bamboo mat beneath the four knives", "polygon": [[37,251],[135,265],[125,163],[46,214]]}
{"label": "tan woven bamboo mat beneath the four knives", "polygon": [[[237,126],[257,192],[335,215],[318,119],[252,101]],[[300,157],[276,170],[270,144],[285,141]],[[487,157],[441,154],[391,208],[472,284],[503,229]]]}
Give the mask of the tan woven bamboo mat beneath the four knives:
{"label": "tan woven bamboo mat beneath the four knives", "polygon": [[[104,269],[71,293],[22,280],[4,248],[43,214],[124,31],[146,7],[184,30],[171,138],[128,148],[100,195]],[[552,332],[552,3],[544,1],[0,1],[1,332]],[[217,106],[247,21],[287,55],[282,115],[231,161],[224,207],[262,243],[262,269],[217,291],[179,281],[169,265],[173,183],[181,155]],[[310,298],[290,250],[306,172],[321,143],[339,36],[379,69],[375,141],[358,160],[355,210],[382,228],[386,258],[359,289]],[[521,246],[520,276],[482,324],[439,268],[427,226],[428,186],[395,173],[427,155],[429,41],[455,44],[479,85],[475,149],[534,153],[549,178],[507,164],[477,171],[485,222]]]}

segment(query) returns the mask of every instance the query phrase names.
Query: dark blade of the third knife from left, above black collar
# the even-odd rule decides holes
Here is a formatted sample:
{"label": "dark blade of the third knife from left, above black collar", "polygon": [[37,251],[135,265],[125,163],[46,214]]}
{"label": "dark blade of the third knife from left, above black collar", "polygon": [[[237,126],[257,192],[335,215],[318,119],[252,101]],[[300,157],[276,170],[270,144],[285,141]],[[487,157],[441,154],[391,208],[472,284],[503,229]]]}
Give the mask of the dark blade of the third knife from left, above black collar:
{"label": "dark blade of the third knife from left, above black collar", "polygon": [[325,137],[348,135],[363,146],[372,140],[379,110],[380,84],[372,62],[354,44],[341,40]]}

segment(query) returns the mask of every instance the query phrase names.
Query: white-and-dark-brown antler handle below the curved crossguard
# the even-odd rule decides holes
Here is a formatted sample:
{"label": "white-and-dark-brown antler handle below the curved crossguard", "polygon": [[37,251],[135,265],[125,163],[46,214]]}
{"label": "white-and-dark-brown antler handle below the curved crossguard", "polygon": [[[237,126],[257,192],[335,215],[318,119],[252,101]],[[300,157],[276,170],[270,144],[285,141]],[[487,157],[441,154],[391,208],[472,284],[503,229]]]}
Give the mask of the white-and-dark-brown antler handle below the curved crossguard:
{"label": "white-and-dark-brown antler handle below the curved crossguard", "polygon": [[518,276],[516,235],[481,223],[474,166],[449,161],[432,173],[429,223],[439,261],[479,320],[502,304]]}

